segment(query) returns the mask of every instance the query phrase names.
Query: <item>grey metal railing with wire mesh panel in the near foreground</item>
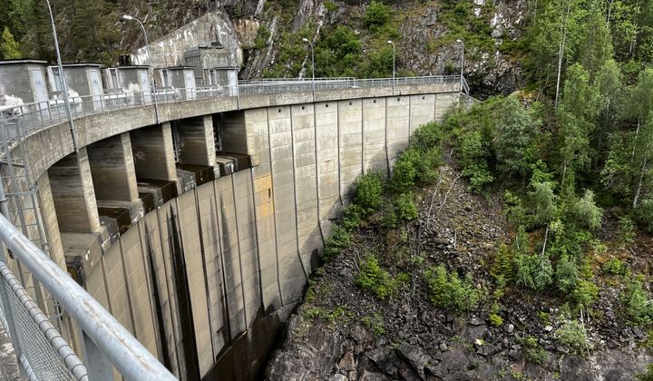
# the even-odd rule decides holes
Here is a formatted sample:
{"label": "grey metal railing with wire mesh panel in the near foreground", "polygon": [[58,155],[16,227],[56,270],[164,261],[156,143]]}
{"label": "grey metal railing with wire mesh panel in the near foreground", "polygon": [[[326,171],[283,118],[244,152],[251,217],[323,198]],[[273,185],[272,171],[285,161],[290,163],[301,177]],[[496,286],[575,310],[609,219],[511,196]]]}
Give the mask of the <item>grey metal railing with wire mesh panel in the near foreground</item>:
{"label": "grey metal railing with wire mesh panel in the near foreground", "polygon": [[[3,215],[0,215],[0,241],[82,329],[84,363],[44,317],[5,265],[4,254],[0,254],[3,324],[28,373],[26,376],[34,380],[108,381],[113,379],[115,366],[127,380],[176,379],[98,301]],[[4,249],[0,251],[4,253]]]}

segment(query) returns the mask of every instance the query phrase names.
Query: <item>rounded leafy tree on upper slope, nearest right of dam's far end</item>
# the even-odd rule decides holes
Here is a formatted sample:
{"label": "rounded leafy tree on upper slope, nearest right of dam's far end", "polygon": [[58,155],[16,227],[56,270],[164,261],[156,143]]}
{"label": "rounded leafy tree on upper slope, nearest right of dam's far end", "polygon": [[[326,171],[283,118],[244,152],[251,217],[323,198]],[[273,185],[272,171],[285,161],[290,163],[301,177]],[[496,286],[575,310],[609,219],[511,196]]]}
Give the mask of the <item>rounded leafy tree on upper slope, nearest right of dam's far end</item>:
{"label": "rounded leafy tree on upper slope, nearest right of dam's far end", "polygon": [[524,109],[516,97],[506,98],[494,140],[500,170],[521,177],[527,175],[534,159],[535,136],[540,124],[541,121]]}

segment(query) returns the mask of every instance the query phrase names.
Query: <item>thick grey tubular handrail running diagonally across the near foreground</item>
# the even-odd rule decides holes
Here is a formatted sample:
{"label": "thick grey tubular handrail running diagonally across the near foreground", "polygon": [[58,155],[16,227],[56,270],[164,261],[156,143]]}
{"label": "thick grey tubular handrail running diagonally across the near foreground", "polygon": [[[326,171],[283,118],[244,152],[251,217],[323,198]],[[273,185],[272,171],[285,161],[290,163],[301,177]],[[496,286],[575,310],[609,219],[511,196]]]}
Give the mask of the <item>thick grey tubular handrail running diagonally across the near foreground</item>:
{"label": "thick grey tubular handrail running diagonally across the near foreground", "polygon": [[[97,300],[2,215],[0,240],[83,329],[88,379],[112,379],[111,366],[115,366],[128,380],[177,379]],[[12,340],[18,338],[21,337],[12,337]],[[67,358],[64,360],[67,361]]]}

